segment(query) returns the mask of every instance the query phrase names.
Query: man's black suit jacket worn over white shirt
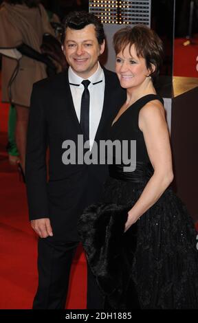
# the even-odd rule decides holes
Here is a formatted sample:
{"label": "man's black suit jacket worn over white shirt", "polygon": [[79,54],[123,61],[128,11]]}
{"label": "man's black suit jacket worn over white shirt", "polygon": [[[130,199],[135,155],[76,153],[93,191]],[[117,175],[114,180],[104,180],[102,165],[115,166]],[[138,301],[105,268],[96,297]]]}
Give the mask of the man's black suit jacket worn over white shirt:
{"label": "man's black suit jacket worn over white shirt", "polygon": [[[102,116],[95,141],[107,139],[107,129],[126,100],[115,73],[104,69]],[[32,91],[25,179],[30,220],[50,218],[54,241],[78,241],[76,223],[85,207],[100,199],[107,165],[65,165],[65,140],[82,135],[69,87],[68,72],[36,82]],[[50,149],[47,181],[46,151]],[[48,161],[47,161],[48,164]]]}

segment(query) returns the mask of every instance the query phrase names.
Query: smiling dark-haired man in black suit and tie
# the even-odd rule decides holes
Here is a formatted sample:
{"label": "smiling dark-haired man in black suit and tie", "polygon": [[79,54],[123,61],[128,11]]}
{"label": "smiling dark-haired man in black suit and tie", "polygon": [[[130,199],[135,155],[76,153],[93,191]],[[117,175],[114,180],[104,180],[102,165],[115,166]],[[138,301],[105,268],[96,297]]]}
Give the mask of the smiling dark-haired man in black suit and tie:
{"label": "smiling dark-haired man in black suit and tie", "polygon": [[[65,308],[69,271],[79,243],[78,216],[98,201],[107,176],[102,164],[63,163],[63,142],[77,145],[78,136],[84,135],[91,149],[93,140],[105,140],[126,96],[117,76],[98,63],[104,52],[104,30],[96,16],[87,12],[67,16],[63,52],[68,71],[37,82],[32,91],[25,179],[30,220],[39,234],[39,287],[33,309]],[[87,308],[102,307],[102,295],[88,267]]]}

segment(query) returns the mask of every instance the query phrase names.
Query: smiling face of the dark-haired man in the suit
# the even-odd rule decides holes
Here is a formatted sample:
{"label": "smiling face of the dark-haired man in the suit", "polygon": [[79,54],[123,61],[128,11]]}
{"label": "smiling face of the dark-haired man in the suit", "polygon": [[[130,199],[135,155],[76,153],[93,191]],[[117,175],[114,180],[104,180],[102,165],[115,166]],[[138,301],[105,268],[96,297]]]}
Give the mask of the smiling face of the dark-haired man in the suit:
{"label": "smiling face of the dark-haired man in the suit", "polygon": [[81,78],[89,78],[98,67],[98,56],[104,52],[104,42],[98,44],[93,24],[81,30],[67,27],[63,52],[67,63]]}

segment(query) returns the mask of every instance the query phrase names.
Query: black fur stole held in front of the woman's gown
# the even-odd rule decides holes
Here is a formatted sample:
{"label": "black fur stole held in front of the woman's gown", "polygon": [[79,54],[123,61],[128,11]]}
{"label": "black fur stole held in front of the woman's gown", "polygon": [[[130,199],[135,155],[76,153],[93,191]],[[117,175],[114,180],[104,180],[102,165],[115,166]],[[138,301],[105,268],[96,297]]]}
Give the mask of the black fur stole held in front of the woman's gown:
{"label": "black fur stole held in front of the woman's gown", "polygon": [[129,206],[100,203],[86,208],[78,221],[87,261],[109,309],[138,308],[131,277],[137,225],[124,233],[129,210]]}

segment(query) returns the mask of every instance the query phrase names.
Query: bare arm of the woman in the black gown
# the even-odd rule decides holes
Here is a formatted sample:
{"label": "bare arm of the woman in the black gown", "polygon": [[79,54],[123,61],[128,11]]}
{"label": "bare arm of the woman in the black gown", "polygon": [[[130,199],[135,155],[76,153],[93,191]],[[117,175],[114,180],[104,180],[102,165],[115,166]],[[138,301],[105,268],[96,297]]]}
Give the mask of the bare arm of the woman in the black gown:
{"label": "bare arm of the woman in the black gown", "polygon": [[148,102],[139,115],[139,127],[143,132],[148,156],[153,165],[154,173],[146,184],[140,199],[129,211],[125,230],[140,218],[161,197],[173,181],[172,156],[168,126],[164,107],[159,101]]}

